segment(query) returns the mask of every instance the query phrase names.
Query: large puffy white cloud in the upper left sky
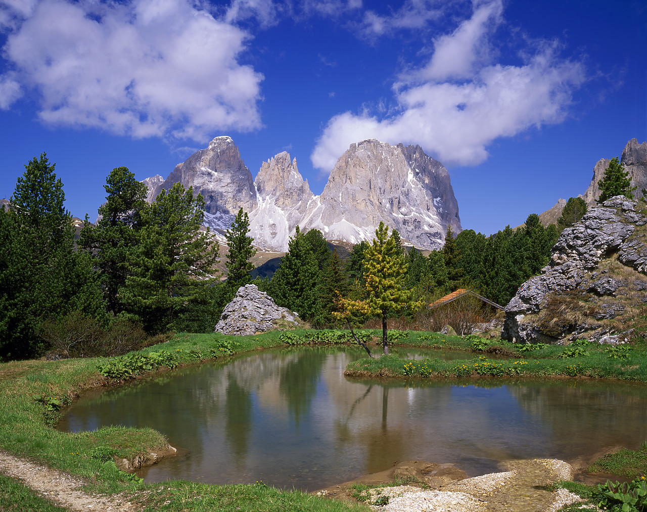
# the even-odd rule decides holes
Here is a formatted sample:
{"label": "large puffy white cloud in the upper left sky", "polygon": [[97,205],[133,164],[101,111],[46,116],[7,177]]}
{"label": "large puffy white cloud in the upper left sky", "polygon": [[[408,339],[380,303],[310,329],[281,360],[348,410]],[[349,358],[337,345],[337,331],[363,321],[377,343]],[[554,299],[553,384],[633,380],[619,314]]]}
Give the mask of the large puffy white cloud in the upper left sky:
{"label": "large puffy white cloud in the upper left sky", "polygon": [[189,0],[42,0],[3,50],[47,124],[204,142],[261,126],[247,39]]}

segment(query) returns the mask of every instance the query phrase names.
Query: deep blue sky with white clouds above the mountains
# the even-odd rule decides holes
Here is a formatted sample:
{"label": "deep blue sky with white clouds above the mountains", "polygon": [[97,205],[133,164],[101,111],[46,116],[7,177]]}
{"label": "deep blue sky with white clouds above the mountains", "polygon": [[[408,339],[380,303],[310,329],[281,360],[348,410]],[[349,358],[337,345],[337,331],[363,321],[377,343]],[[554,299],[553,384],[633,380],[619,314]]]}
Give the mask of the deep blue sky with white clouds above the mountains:
{"label": "deep blue sky with white clouds above the mountains", "polygon": [[646,34],[642,0],[0,0],[0,195],[46,151],[94,219],[112,168],[166,177],[217,135],[320,194],[376,138],[443,162],[490,234],[647,140]]}

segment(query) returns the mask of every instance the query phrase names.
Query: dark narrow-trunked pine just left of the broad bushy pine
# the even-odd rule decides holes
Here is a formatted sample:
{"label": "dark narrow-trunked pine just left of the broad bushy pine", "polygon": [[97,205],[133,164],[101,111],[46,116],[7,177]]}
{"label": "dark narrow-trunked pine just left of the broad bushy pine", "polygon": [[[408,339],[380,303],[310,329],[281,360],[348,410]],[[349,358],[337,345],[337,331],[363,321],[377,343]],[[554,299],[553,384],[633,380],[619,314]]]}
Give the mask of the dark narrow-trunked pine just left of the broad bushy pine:
{"label": "dark narrow-trunked pine just left of the broad bushy pine", "polygon": [[116,315],[122,311],[118,290],[126,284],[127,255],[137,246],[142,212],[148,206],[147,188],[126,167],[114,168],[105,182],[107,195],[99,207],[100,218],[92,227],[85,217],[80,245],[96,258],[104,280],[107,309]]}

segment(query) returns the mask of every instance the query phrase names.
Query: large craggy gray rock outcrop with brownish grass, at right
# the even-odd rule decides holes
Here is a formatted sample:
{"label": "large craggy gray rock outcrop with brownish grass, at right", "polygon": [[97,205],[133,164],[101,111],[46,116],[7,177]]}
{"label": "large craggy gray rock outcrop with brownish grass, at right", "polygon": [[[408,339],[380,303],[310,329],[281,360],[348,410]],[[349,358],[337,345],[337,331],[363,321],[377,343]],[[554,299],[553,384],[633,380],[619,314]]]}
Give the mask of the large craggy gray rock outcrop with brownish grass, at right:
{"label": "large craggy gray rock outcrop with brownish grass, at right", "polygon": [[[639,293],[647,265],[647,239],[638,227],[647,217],[620,195],[593,206],[562,232],[542,274],[521,285],[505,308],[501,337],[513,342],[558,342],[584,335],[600,339]],[[619,297],[623,300],[619,300]]]}

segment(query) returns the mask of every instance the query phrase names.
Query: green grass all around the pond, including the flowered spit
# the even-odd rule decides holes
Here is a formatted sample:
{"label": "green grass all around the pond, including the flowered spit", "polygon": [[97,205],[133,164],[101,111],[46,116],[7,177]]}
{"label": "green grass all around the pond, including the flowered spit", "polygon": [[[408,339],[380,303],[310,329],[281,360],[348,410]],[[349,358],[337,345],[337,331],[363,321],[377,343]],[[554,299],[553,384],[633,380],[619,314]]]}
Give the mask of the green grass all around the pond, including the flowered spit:
{"label": "green grass all around the pond, including the flowered spit", "polygon": [[[359,331],[371,344],[381,343],[379,331]],[[441,348],[465,351],[465,360],[412,361],[387,355],[359,359],[346,368],[350,378],[459,379],[476,381],[497,377],[622,379],[647,382],[644,364],[647,346],[598,346],[575,342],[569,346],[518,345],[474,336],[465,338],[438,333],[390,331],[392,346]],[[256,336],[179,334],[155,346],[112,359],[64,359],[60,361],[15,361],[0,364],[0,447],[7,454],[28,458],[87,482],[86,493],[124,496],[141,510],[198,511],[347,511],[368,510],[362,503],[348,504],[301,491],[281,491],[262,483],[255,485],[205,485],[194,482],[144,484],[120,471],[116,458],[133,460],[168,448],[164,436],[151,429],[106,427],[70,434],[52,428],[61,410],[87,390],[115,386],[132,379],[146,379],[172,368],[205,361],[228,361],[235,353],[302,344],[351,342],[347,331],[296,330]],[[376,347],[377,348],[377,347]],[[486,359],[485,353],[508,356]],[[589,471],[641,480],[647,468],[647,447],[623,450],[605,456]],[[562,482],[591,500],[600,501],[596,487]],[[617,491],[617,489],[616,489]],[[597,493],[597,495],[596,495]],[[591,496],[593,495],[593,498]],[[598,496],[595,498],[595,496]],[[609,498],[610,499],[610,498]],[[63,510],[39,498],[17,480],[1,477],[0,504],[5,510]],[[26,506],[25,504],[28,504]],[[612,502],[609,501],[609,505]],[[575,507],[575,506],[571,506]],[[570,508],[571,510],[575,508]],[[629,510],[642,510],[633,508]]]}

